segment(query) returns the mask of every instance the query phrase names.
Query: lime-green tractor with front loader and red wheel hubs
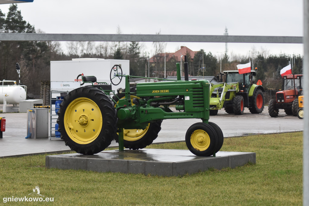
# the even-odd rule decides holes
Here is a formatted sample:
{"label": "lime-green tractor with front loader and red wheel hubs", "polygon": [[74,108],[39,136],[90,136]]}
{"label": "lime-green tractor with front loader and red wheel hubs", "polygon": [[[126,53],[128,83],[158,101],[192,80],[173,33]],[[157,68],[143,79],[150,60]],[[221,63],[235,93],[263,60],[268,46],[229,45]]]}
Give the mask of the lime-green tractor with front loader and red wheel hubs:
{"label": "lime-green tractor with front loader and red wheel hubs", "polygon": [[210,85],[210,115],[217,115],[222,108],[228,114],[242,115],[245,107],[252,114],[261,113],[264,109],[264,88],[253,83],[255,75],[254,70],[245,74],[238,71],[218,74],[220,82]]}

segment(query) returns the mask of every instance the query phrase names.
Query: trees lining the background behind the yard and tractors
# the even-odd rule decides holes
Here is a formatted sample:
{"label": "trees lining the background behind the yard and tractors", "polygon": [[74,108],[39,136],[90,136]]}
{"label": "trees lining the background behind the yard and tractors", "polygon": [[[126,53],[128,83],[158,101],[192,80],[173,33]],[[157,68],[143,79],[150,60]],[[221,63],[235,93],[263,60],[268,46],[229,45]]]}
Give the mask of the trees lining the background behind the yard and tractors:
{"label": "trees lining the background behind the yard and tractors", "polygon": [[[43,33],[36,30],[33,25],[23,20],[16,4],[11,4],[9,12],[3,14],[0,10],[0,32],[6,33]],[[117,34],[121,34],[118,26]],[[157,34],[160,34],[158,32]],[[104,58],[126,59],[130,61],[130,74],[145,76],[145,66],[148,67],[149,57],[153,58],[150,64],[150,76],[164,78],[164,65],[167,76],[175,76],[176,63],[174,57],[164,62],[166,43],[154,42],[152,55],[144,53],[143,44],[140,42],[67,42],[67,53],[63,53],[59,42],[50,41],[0,41],[0,79],[16,80],[15,63],[21,66],[21,82],[28,88],[28,93],[40,94],[41,81],[50,80],[50,61],[70,60],[72,58]],[[267,51],[256,52],[255,48],[250,55],[253,68],[257,67],[257,79],[261,79],[263,86],[280,88],[280,69],[288,65],[290,56],[286,54],[268,54]],[[248,56],[239,56],[231,53],[223,55],[220,60],[211,52],[198,51],[194,57],[187,55],[189,74],[191,76],[215,76],[222,71],[235,70],[237,64],[248,63]],[[200,68],[202,61],[205,71]],[[166,64],[164,64],[166,63]],[[221,64],[220,64],[221,63]],[[295,56],[294,73],[301,74],[303,57]],[[147,68],[148,69],[148,68]]]}

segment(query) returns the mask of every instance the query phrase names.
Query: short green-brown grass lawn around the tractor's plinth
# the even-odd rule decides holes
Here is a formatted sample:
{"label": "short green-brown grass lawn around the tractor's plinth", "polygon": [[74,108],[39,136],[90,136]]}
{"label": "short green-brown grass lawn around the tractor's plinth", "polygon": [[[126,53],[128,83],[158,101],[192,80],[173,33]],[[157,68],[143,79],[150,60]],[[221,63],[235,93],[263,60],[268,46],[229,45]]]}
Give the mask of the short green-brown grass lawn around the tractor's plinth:
{"label": "short green-brown grass lawn around the tractor's plinth", "polygon": [[[187,149],[184,142],[148,148]],[[2,158],[0,204],[38,185],[54,201],[31,205],[302,205],[302,132],[225,138],[221,150],[256,152],[256,164],[160,177],[46,169],[45,155]]]}

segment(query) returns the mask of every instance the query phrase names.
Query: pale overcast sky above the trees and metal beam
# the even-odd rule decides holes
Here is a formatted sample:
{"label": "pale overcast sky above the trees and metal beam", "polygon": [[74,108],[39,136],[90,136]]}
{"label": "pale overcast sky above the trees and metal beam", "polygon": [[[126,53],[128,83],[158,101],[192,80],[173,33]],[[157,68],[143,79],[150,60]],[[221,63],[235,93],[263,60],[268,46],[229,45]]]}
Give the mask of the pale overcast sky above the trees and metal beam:
{"label": "pale overcast sky above the trees and metal beam", "polygon": [[[0,5],[7,13],[9,4]],[[302,0],[124,1],[34,0],[19,3],[24,20],[45,33],[303,36]],[[145,51],[151,53],[151,43]],[[167,43],[166,52],[180,46],[215,55],[224,43]],[[229,43],[229,55],[248,55],[253,46],[270,53],[301,54],[303,44]]]}

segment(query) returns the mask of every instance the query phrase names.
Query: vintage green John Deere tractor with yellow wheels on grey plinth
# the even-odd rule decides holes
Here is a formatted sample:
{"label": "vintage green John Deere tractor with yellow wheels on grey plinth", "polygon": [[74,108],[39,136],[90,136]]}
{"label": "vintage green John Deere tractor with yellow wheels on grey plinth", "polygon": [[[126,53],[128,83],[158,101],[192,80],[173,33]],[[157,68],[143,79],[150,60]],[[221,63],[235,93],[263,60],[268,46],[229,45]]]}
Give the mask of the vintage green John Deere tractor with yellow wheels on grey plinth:
{"label": "vintage green John Deere tractor with yellow wheels on grey plinth", "polygon": [[[115,138],[120,151],[124,147],[142,149],[158,137],[163,120],[196,118],[201,122],[188,128],[186,145],[197,156],[215,156],[222,147],[223,133],[209,121],[210,82],[188,80],[186,56],[184,81],[179,63],[176,69],[175,81],[144,82],[130,88],[130,79],[137,77],[122,75],[121,67],[114,65],[112,84],[118,85],[125,78],[125,88],[118,88],[117,93],[111,85],[83,76],[83,82],[92,86],[72,90],[60,104],[57,123],[61,139],[71,150],[85,155],[101,152]],[[176,111],[170,108],[172,105],[176,105]]]}

